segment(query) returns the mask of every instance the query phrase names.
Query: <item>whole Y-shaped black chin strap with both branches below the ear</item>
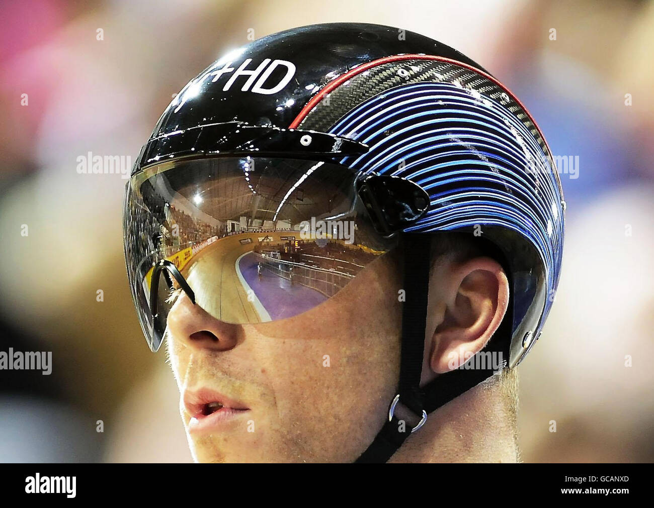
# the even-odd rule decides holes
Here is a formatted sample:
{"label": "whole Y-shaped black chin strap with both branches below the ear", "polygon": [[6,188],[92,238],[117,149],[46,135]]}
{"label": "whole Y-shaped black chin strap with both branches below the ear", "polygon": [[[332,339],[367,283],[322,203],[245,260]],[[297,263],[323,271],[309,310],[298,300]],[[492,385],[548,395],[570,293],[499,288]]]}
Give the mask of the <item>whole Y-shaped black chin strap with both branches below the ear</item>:
{"label": "whole Y-shaped black chin strap with both branches below the ear", "polygon": [[[428,413],[436,411],[441,405],[447,404],[475,387],[495,372],[492,366],[485,369],[457,369],[439,375],[424,387],[420,387],[432,238],[424,233],[405,233],[403,239],[405,301],[402,306],[402,348],[398,394],[390,404],[387,421],[368,449],[356,459],[356,462],[361,463],[387,462],[411,432],[421,428]],[[469,361],[477,360],[475,357],[470,358]],[[478,362],[475,365],[485,363]],[[395,415],[398,404],[404,405],[417,415],[415,427],[409,427],[407,422]]]}

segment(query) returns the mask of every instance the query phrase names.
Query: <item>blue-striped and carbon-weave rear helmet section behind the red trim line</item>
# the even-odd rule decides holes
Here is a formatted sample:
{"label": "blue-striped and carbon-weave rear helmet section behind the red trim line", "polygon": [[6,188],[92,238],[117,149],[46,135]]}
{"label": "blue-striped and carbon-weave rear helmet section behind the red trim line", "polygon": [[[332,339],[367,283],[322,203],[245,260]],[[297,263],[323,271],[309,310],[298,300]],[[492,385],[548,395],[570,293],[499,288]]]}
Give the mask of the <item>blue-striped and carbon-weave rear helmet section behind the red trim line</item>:
{"label": "blue-striped and carbon-weave rear helmet section behind the red trim line", "polygon": [[427,191],[430,208],[407,231],[473,232],[500,247],[513,279],[509,364],[519,363],[553,302],[565,210],[549,148],[522,104],[479,69],[415,55],[354,69],[310,106],[301,128],[370,146],[340,163]]}

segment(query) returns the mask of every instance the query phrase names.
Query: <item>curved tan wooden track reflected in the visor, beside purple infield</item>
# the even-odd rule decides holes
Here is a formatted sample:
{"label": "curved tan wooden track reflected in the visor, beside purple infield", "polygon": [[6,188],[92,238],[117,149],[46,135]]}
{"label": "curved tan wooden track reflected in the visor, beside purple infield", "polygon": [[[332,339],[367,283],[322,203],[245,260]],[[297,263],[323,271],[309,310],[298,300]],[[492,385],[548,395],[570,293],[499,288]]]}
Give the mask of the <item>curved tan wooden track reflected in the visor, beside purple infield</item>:
{"label": "curved tan wooden track reflected in the visor, beside purple infield", "polygon": [[[196,302],[213,317],[227,323],[261,321],[236,274],[236,260],[260,245],[259,238],[264,236],[272,240],[263,245],[284,243],[280,236],[299,238],[297,232],[288,231],[233,234],[205,247],[184,266],[182,275],[196,294]],[[252,243],[241,244],[244,238]]]}

